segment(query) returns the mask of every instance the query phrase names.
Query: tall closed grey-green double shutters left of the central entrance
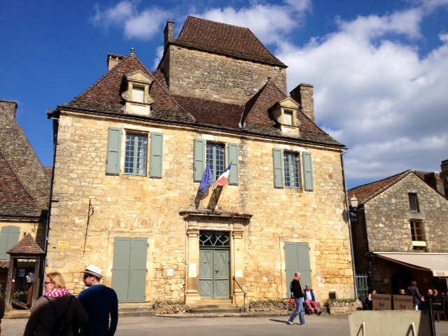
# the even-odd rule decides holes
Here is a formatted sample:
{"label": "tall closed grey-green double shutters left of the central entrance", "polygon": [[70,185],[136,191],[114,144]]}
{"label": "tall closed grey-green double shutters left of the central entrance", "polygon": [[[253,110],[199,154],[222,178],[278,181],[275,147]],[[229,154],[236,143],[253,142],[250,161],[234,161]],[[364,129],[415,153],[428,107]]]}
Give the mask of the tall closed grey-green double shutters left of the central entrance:
{"label": "tall closed grey-green double shutters left of the central entrance", "polygon": [[145,302],[148,239],[116,238],[113,245],[112,288],[118,302]]}

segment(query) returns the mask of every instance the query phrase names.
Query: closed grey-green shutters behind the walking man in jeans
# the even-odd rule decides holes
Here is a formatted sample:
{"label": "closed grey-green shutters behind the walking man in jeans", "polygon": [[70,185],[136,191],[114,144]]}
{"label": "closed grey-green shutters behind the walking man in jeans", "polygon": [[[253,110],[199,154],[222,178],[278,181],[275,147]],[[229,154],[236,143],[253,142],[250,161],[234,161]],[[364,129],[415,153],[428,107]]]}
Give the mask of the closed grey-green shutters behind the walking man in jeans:
{"label": "closed grey-green shutters behind the walking man in jeans", "polygon": [[290,295],[289,284],[293,281],[295,272],[302,274],[302,288],[311,285],[311,265],[309,263],[309,245],[307,243],[285,243],[286,291]]}

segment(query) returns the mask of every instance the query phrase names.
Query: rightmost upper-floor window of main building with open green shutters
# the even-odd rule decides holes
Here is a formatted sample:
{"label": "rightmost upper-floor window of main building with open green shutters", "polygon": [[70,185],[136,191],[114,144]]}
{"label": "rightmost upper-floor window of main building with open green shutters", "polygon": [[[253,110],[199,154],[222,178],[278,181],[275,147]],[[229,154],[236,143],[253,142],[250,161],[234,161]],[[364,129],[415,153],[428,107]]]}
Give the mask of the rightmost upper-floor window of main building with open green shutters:
{"label": "rightmost upper-floor window of main building with open green shutters", "polygon": [[274,187],[314,190],[311,153],[273,149]]}

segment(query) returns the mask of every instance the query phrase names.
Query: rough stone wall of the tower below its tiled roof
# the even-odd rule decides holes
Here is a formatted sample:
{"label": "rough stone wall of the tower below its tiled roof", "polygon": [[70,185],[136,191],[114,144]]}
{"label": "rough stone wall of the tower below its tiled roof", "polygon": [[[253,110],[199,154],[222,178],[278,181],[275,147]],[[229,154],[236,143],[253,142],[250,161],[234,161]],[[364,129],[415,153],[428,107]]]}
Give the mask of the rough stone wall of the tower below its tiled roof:
{"label": "rough stone wall of the tower below its tiled roof", "polygon": [[281,66],[170,45],[160,67],[172,94],[246,104],[268,78],[287,94]]}

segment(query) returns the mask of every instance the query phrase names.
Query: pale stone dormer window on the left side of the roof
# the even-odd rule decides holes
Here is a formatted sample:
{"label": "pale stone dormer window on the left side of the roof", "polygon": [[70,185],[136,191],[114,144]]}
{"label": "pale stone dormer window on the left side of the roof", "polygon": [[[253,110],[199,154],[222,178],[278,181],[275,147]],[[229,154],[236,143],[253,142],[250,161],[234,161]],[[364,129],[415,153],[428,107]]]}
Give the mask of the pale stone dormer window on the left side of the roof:
{"label": "pale stone dormer window on the left side of the roof", "polygon": [[127,90],[121,94],[125,99],[125,112],[138,116],[149,116],[151,104],[154,100],[149,95],[149,89],[153,84],[153,78],[143,71],[134,71],[125,75]]}

